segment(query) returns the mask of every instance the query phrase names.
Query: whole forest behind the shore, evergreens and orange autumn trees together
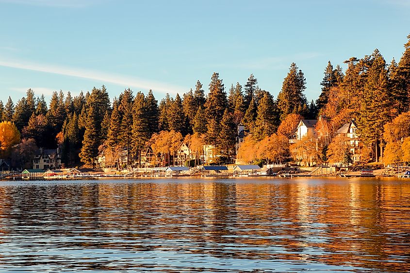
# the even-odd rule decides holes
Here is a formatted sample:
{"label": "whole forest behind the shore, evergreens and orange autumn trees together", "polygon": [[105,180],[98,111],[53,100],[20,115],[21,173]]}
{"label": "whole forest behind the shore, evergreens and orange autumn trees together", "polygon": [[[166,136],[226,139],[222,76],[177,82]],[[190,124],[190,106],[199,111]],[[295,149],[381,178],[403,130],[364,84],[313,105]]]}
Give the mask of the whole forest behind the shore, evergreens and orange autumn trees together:
{"label": "whole forest behind the shore, evergreens and orange autumn trees together", "polygon": [[284,73],[276,98],[260,88],[252,74],[243,85],[226,87],[216,72],[208,88],[198,80],[182,96],[167,94],[159,102],[152,90],[144,94],[131,89],[110,100],[102,85],[74,97],[54,92],[48,104],[29,89],[16,104],[11,97],[5,104],[0,101],[0,158],[18,167],[30,162],[39,147],[59,146],[66,167],[93,166],[99,154],[115,158],[125,148],[129,166],[138,166],[148,145],[156,154],[175,155],[184,142],[197,153],[204,144],[214,145],[231,161],[236,156],[237,127],[244,125],[247,135],[237,156],[248,162],[279,163],[291,160],[297,148],[288,140],[294,138],[300,119],[326,116],[320,150],[306,141],[295,144],[312,150],[316,162],[344,161],[343,141],[335,133],[352,119],[360,129],[363,162],[408,162],[410,35],[407,38],[398,63],[393,59],[388,64],[378,49],[349,58],[345,71],[329,61],[322,92],[310,102],[304,73],[295,63]]}

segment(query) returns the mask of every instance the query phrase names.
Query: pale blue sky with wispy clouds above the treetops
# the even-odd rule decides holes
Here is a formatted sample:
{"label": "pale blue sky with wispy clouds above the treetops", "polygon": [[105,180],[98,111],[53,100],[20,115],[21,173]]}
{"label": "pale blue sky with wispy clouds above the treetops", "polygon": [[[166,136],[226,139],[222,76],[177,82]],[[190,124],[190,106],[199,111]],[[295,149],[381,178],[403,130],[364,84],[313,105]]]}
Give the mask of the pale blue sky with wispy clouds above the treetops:
{"label": "pale blue sky with wispy clouds above the treetops", "polygon": [[378,48],[398,61],[409,14],[408,0],[0,0],[0,99],[102,84],[161,99],[197,80],[207,91],[214,71],[227,91],[253,73],[276,97],[292,62],[316,99],[329,60]]}

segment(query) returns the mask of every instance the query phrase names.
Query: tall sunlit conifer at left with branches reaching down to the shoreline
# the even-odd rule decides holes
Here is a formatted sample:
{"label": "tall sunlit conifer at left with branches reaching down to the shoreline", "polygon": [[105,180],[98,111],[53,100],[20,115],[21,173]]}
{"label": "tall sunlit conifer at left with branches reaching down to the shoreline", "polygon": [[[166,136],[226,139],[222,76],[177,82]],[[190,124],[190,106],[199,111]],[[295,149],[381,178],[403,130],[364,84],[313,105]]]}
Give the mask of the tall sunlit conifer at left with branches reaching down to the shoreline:
{"label": "tall sunlit conifer at left with branches reaching down to the shoreline", "polygon": [[98,124],[98,114],[97,106],[91,104],[88,109],[84,140],[82,141],[81,153],[79,155],[81,161],[88,166],[94,166],[98,156],[99,140],[101,138],[98,135],[98,128],[101,128],[101,123]]}

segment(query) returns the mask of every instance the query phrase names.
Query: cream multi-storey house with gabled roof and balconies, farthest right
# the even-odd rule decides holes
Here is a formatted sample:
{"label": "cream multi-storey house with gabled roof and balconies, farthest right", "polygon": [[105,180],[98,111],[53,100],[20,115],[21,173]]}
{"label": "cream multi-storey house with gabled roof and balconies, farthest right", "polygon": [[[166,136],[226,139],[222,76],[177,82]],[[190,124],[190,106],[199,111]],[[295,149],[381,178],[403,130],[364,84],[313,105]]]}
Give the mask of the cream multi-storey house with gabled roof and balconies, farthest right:
{"label": "cream multi-storey house with gabled roof and balconies, farthest right", "polygon": [[354,119],[344,124],[336,131],[336,134],[345,138],[345,145],[350,149],[353,163],[360,162],[360,134]]}

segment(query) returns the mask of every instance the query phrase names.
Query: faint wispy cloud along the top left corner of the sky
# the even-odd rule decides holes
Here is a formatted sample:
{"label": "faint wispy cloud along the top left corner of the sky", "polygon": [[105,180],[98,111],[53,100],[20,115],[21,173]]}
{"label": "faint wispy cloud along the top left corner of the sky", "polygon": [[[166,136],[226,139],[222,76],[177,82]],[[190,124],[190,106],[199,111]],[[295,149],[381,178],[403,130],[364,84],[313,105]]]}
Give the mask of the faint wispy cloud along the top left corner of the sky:
{"label": "faint wispy cloud along the top left corner of the sky", "polygon": [[83,8],[97,4],[97,0],[0,0],[0,3],[23,4],[31,6]]}

